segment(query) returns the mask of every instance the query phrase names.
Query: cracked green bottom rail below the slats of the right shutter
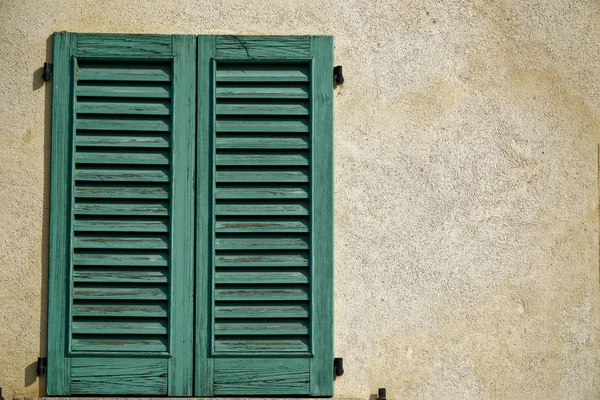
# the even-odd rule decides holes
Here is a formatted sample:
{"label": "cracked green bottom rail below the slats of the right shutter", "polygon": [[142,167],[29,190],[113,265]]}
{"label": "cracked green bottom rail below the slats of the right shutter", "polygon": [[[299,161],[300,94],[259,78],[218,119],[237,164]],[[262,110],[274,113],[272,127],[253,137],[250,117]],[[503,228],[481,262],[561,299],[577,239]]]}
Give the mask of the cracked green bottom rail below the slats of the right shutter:
{"label": "cracked green bottom rail below the slats of the right shutter", "polygon": [[308,395],[310,359],[217,358],[214,360],[214,394]]}

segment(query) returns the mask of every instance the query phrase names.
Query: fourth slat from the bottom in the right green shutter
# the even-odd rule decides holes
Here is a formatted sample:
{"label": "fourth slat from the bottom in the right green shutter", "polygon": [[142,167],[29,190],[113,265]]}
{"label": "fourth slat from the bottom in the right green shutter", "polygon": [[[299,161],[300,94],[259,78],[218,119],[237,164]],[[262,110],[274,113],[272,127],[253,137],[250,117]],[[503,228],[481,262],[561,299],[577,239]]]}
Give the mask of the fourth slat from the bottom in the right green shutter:
{"label": "fourth slat from the bottom in the right green shutter", "polygon": [[292,301],[308,300],[306,287],[217,287],[215,289],[216,301]]}

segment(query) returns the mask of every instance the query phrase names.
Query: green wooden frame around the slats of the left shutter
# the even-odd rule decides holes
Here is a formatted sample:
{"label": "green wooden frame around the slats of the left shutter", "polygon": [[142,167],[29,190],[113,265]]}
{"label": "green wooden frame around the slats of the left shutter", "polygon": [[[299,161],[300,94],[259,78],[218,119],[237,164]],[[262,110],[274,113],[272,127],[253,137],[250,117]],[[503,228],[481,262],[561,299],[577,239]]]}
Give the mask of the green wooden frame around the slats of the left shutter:
{"label": "green wooden frame around the slats of the left shutter", "polygon": [[[192,394],[196,37],[55,33],[48,284],[49,395]],[[172,65],[168,353],[75,354],[70,349],[76,60],[166,61]],[[177,268],[173,268],[177,265]],[[76,373],[73,373],[75,371]],[[119,373],[119,371],[122,371]],[[158,372],[157,372],[158,371]],[[162,372],[161,372],[162,371]],[[165,375],[164,371],[168,371]],[[107,373],[114,378],[104,377]],[[159,375],[158,375],[159,374]],[[159,387],[161,389],[159,389]],[[164,391],[163,391],[164,390]]]}

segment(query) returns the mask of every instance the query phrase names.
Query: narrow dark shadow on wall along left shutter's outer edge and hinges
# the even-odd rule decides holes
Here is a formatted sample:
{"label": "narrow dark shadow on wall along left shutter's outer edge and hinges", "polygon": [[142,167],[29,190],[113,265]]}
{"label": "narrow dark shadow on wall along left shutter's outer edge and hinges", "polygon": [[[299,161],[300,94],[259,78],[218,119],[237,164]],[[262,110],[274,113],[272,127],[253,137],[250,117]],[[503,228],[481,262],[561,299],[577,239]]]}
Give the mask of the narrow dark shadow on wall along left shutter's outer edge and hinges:
{"label": "narrow dark shadow on wall along left shutter's outer edge and hinges", "polygon": [[[46,39],[46,60],[52,61],[52,39]],[[43,63],[42,63],[43,64]],[[42,79],[43,66],[33,72],[33,91],[44,89],[44,215],[42,219],[42,268],[40,292],[40,349],[39,356],[46,357],[46,340],[48,333],[48,233],[50,221],[50,154],[52,131],[52,80]],[[37,376],[37,360],[29,364],[24,371],[25,387],[31,386],[38,380],[40,396],[46,395],[46,378]]]}

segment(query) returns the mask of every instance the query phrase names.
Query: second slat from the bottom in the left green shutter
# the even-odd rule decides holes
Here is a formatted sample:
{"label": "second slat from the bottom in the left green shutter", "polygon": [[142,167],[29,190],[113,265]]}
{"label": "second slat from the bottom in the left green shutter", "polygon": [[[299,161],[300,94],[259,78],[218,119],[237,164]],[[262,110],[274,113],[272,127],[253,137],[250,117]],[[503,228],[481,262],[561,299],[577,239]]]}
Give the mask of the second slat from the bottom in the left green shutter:
{"label": "second slat from the bottom in the left green shutter", "polygon": [[166,321],[80,321],[72,322],[72,333],[75,335],[166,335]]}

